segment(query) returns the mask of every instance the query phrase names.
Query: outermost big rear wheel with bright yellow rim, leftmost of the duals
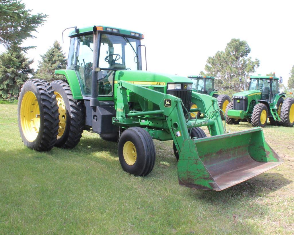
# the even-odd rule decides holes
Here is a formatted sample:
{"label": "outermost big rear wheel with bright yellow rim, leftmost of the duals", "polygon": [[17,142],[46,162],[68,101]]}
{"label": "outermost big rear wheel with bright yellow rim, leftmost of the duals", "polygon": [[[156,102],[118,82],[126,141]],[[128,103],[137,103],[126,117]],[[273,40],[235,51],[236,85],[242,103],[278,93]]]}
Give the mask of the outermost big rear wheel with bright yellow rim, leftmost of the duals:
{"label": "outermost big rear wheel with bright yellow rim, leftmost of the duals", "polygon": [[27,80],[18,102],[19,132],[24,145],[37,151],[50,150],[58,130],[54,90],[44,80]]}

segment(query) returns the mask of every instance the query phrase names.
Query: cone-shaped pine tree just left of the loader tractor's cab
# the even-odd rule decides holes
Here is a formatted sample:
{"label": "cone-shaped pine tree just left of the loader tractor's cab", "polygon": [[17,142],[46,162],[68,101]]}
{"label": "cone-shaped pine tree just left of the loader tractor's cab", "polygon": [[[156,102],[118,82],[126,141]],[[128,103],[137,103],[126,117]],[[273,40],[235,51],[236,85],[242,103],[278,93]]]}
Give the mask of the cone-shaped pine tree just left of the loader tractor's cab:
{"label": "cone-shaped pine tree just left of the loader tractor's cab", "polygon": [[53,43],[53,47],[41,56],[42,60],[39,61],[39,68],[35,74],[35,78],[40,78],[48,82],[60,79],[60,75],[55,75],[54,71],[60,65],[61,69],[66,68],[66,59],[62,48],[58,41]]}

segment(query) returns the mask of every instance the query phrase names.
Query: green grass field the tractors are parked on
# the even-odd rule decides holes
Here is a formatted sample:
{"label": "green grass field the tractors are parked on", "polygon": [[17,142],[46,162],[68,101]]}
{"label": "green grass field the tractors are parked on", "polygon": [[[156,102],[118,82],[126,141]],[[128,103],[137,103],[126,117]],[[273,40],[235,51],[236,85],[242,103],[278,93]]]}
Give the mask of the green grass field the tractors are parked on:
{"label": "green grass field the tractors are parked on", "polygon": [[153,171],[134,177],[121,169],[117,144],[97,134],[84,132],[72,150],[26,148],[17,106],[0,105],[0,233],[293,234],[294,128],[264,134],[285,163],[211,192],[178,185],[172,141],[155,141]]}

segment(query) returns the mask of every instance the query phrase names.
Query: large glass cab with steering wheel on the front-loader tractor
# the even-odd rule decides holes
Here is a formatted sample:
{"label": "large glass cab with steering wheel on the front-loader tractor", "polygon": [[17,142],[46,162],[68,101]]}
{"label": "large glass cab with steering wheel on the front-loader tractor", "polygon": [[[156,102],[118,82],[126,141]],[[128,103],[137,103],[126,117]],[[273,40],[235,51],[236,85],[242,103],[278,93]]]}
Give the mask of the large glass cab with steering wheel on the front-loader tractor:
{"label": "large glass cab with steering wheel on the front-loader tractor", "polygon": [[[97,32],[96,44],[93,31]],[[144,36],[141,33],[94,26],[73,31],[69,37],[67,69],[75,70],[83,96],[91,96],[94,52],[97,54],[97,66],[94,67],[101,69],[97,79],[97,95],[105,99],[113,96],[116,70],[142,70],[141,39]]]}

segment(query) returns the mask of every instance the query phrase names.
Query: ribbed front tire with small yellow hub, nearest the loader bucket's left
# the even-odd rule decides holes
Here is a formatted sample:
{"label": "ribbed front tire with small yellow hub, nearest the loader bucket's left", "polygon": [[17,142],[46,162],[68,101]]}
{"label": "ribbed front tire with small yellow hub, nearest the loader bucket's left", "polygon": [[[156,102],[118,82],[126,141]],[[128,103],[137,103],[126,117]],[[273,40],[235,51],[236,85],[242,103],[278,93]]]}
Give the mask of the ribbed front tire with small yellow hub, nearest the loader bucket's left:
{"label": "ribbed front tire with small yellow hub, nearest the loader bucket's left", "polygon": [[141,127],[129,127],[118,141],[118,159],[124,171],[148,175],[155,164],[155,146],[149,133]]}

